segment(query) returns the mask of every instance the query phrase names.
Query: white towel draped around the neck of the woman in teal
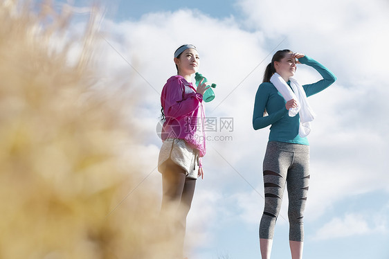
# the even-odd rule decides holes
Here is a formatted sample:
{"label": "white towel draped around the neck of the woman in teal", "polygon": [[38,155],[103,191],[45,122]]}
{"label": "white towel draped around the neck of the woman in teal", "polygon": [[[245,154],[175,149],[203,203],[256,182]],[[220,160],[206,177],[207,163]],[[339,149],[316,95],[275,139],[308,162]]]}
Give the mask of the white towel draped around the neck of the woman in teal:
{"label": "white towel draped around the neck of the woman in teal", "polygon": [[314,120],[316,114],[311,106],[309,106],[307,95],[301,84],[294,78],[289,78],[289,80],[291,81],[291,88],[293,91],[278,73],[274,73],[270,78],[270,82],[274,84],[275,88],[281,93],[285,100],[294,99],[297,101],[297,107],[289,109],[289,116],[293,117],[296,116],[296,114],[299,114],[300,127],[298,128],[298,134],[301,137],[305,137],[311,132],[311,121]]}

